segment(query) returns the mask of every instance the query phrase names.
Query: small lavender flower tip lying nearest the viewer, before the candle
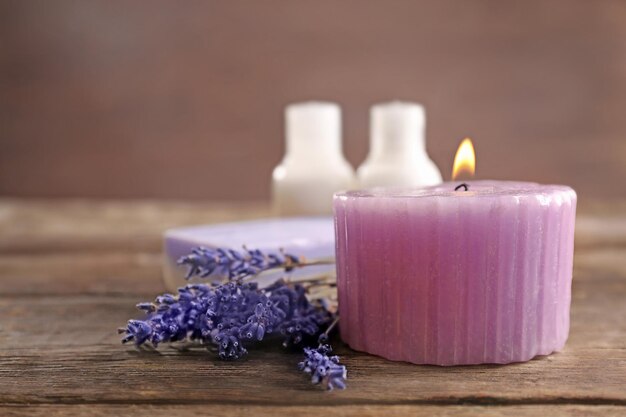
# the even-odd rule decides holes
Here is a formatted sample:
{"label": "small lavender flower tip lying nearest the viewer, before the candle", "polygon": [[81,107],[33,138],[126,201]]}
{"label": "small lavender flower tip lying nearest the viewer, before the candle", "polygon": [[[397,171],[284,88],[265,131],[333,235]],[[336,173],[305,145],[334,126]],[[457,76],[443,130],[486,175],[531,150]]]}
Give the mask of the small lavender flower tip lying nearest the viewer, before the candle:
{"label": "small lavender flower tip lying nearest the viewer, before the candle", "polygon": [[298,364],[301,371],[311,375],[315,385],[323,384],[327,390],[345,389],[347,370],[339,363],[338,356],[329,356],[329,345],[320,344],[317,349],[304,348],[304,360]]}

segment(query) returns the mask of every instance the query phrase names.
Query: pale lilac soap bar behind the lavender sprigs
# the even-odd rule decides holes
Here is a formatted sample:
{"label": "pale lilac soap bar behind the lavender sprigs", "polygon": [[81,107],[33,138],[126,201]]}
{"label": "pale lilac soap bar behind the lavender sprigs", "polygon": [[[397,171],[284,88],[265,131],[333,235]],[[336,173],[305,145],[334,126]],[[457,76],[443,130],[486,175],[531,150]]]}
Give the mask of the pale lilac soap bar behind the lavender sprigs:
{"label": "pale lilac soap bar behind the lavender sprigs", "polygon": [[[197,246],[207,248],[250,249],[287,253],[306,259],[335,257],[335,232],[332,217],[293,217],[264,219],[236,223],[221,223],[169,229],[164,235],[164,280],[169,290],[185,285],[186,270],[176,261]],[[291,277],[334,272],[334,265],[311,266],[296,269]],[[267,279],[278,278],[285,272],[268,274]]]}

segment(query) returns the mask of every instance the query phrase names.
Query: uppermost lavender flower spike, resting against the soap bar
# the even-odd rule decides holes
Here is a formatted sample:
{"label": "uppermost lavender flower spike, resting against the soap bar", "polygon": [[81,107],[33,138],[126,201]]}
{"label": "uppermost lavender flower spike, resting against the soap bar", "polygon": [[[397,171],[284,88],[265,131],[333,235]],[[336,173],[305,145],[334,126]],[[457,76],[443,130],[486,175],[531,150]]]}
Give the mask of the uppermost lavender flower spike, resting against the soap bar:
{"label": "uppermost lavender flower spike, resting against the soap bar", "polygon": [[179,265],[189,266],[186,278],[209,276],[240,279],[269,269],[282,268],[291,271],[302,264],[300,258],[286,253],[263,253],[258,249],[242,251],[233,249],[209,249],[198,247],[191,254],[181,257]]}

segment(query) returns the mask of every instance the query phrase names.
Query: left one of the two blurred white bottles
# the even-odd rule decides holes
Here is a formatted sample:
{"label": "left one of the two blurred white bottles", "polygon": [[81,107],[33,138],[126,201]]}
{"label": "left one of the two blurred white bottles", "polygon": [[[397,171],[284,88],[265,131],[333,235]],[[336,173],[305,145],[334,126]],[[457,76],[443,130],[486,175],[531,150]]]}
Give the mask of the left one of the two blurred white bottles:
{"label": "left one of the two blurred white bottles", "polygon": [[285,109],[287,149],[274,168],[272,200],[280,216],[331,215],[333,193],[354,188],[354,169],[341,150],[341,110],[326,102]]}

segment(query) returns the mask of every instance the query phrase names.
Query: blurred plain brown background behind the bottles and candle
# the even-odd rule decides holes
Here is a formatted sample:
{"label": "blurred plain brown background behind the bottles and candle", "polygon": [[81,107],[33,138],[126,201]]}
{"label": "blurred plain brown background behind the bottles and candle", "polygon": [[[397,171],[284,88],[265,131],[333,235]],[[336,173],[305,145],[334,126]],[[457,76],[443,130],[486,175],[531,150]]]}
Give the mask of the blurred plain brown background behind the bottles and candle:
{"label": "blurred plain brown background behind the bottles and candle", "polygon": [[0,195],[263,199],[282,109],[428,111],[449,178],[626,197],[626,1],[0,1]]}

